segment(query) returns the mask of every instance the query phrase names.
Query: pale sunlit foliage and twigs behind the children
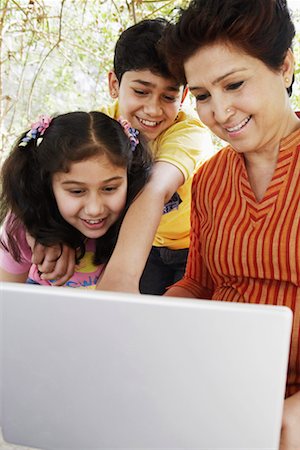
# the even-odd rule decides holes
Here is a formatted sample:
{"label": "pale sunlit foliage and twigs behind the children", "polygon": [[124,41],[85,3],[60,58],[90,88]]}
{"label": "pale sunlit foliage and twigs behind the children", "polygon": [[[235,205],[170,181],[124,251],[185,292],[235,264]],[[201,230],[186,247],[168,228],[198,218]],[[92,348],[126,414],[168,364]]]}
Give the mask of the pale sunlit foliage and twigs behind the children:
{"label": "pale sunlit foliage and twigs behind the children", "polygon": [[183,3],[1,0],[2,152],[41,113],[108,102],[107,72],[119,34],[144,18],[172,17]]}

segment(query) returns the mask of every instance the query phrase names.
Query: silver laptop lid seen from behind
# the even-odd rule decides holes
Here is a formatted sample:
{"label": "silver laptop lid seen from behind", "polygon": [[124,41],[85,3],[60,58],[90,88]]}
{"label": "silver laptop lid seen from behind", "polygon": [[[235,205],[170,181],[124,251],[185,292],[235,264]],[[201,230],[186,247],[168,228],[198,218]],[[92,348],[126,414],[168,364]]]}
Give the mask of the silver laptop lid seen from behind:
{"label": "silver laptop lid seen from behind", "polygon": [[286,307],[2,283],[1,314],[7,442],[278,449]]}

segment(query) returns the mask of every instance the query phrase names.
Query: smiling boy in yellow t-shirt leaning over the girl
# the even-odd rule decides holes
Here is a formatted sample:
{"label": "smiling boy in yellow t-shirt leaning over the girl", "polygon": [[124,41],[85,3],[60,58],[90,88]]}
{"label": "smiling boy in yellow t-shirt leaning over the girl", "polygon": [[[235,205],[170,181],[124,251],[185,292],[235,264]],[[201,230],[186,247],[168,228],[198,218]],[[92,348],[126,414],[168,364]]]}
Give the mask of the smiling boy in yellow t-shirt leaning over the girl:
{"label": "smiling boy in yellow t-shirt leaning over the girl", "polygon": [[[192,175],[213,151],[196,115],[181,110],[187,91],[157,48],[166,24],[164,19],[144,20],[125,30],[108,75],[110,94],[118,100],[103,112],[124,117],[143,133],[155,163],[150,181],[126,213],[97,286],[102,290],[161,295],[185,271]],[[53,261],[48,262],[45,258],[40,266],[42,272],[52,270],[47,278],[65,273],[62,265],[53,271]],[[61,281],[68,276],[67,271]]]}

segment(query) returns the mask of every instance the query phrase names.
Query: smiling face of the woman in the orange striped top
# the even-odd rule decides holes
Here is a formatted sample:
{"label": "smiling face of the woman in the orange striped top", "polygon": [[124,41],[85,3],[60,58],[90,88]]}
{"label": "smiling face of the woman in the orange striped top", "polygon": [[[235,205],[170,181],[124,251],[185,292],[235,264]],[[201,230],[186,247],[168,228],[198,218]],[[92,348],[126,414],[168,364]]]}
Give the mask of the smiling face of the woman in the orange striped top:
{"label": "smiling face of the woman in the orange striped top", "polygon": [[288,51],[280,71],[239,48],[213,44],[184,64],[202,122],[240,153],[278,149],[297,118],[286,88],[293,74]]}

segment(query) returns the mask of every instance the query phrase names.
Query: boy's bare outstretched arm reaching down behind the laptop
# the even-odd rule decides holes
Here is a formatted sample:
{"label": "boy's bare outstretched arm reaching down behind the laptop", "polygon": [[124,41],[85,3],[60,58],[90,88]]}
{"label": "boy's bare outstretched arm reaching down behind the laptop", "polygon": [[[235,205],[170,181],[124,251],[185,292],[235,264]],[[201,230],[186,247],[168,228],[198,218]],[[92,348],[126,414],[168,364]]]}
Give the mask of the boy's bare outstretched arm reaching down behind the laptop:
{"label": "boy's bare outstretched arm reaching down behind the laptop", "polygon": [[184,183],[182,172],[167,162],[155,162],[149,182],[130,205],[114,252],[97,289],[139,292],[163,207]]}

